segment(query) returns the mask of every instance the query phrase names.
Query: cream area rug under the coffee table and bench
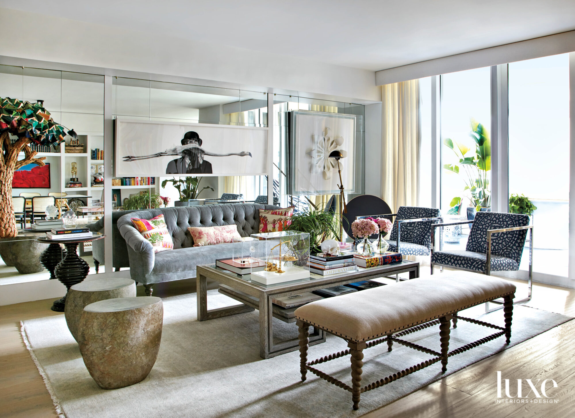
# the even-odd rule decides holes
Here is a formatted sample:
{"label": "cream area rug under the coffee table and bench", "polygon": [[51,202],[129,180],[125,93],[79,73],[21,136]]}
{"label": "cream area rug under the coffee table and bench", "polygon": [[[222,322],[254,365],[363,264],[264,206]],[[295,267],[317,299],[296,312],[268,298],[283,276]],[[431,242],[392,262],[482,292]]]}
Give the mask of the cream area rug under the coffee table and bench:
{"label": "cream area rug under the coffee table and bench", "polygon": [[[262,359],[258,351],[258,311],[199,322],[196,294],[163,299],[162,345],[150,375],[139,384],[104,390],[90,377],[78,344],[64,315],[22,323],[22,338],[43,375],[57,411],[68,418],[86,417],[355,417],[379,408],[447,374],[454,373],[507,348],[498,338],[450,357],[441,374],[436,363],[362,394],[359,411],[351,409],[351,394],[308,372],[300,381],[299,352]],[[235,305],[236,301],[208,292],[208,308]],[[503,310],[482,314],[483,306],[462,311],[462,316],[503,325]],[[571,318],[515,305],[511,345],[562,324]],[[274,322],[277,337],[296,337],[295,324]],[[450,350],[490,335],[490,328],[464,321],[451,330]],[[405,339],[440,351],[439,327],[412,333]],[[345,350],[346,343],[328,335],[309,348],[308,360]],[[364,350],[362,382],[369,384],[425,361],[430,355],[394,344]],[[317,367],[317,366],[316,366]],[[350,356],[318,367],[351,385]]]}

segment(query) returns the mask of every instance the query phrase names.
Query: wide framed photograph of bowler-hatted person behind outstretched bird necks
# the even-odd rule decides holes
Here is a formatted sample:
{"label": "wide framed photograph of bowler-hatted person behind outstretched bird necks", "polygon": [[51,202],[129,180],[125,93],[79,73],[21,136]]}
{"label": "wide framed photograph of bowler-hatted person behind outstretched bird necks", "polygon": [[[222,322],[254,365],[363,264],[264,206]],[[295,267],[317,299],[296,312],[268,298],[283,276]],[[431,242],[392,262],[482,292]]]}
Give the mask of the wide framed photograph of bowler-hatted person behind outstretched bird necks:
{"label": "wide framed photograph of bowler-hatted person behind outstretched bird necks", "polygon": [[115,121],[117,177],[267,175],[268,129]]}

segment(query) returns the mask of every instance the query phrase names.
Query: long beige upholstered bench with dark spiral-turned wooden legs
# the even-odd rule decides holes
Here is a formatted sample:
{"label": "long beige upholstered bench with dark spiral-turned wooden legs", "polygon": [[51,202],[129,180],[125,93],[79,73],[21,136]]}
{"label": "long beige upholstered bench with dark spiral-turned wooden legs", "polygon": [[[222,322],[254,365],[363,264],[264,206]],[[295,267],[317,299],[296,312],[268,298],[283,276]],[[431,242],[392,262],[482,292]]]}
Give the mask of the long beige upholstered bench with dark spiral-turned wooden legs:
{"label": "long beige upholstered bench with dark spiral-turned wooden legs", "polygon": [[[505,328],[458,316],[459,310],[480,305],[503,297]],[[476,273],[445,273],[440,278],[419,278],[394,283],[376,289],[362,290],[343,296],[324,299],[301,306],[295,312],[300,336],[301,379],[307,371],[352,393],[353,408],[359,408],[362,392],[379,388],[400,377],[441,361],[442,373],[447,371],[447,358],[505,335],[511,338],[511,317],[515,285],[503,279]],[[484,325],[498,331],[473,343],[449,351],[450,321],[457,320]],[[323,329],[347,341],[348,350],[307,361],[309,326]],[[441,352],[401,340],[400,337],[420,329],[439,325]],[[387,342],[392,351],[393,342],[434,356],[428,361],[398,371],[370,385],[361,387],[363,349]],[[314,365],[351,354],[351,381],[348,386],[336,378],[315,369]]]}

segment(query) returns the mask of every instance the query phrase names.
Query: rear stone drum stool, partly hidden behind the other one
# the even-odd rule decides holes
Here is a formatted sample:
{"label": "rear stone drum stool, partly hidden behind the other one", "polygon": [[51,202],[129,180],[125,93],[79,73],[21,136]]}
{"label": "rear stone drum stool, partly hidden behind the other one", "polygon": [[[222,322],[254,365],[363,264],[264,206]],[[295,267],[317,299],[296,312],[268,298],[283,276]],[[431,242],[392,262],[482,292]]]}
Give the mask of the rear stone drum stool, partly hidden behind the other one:
{"label": "rear stone drum stool, partly hidden behind the other one", "polygon": [[72,336],[78,341],[78,324],[86,305],[105,299],[135,297],[136,282],[127,278],[96,279],[78,283],[68,291],[64,316]]}

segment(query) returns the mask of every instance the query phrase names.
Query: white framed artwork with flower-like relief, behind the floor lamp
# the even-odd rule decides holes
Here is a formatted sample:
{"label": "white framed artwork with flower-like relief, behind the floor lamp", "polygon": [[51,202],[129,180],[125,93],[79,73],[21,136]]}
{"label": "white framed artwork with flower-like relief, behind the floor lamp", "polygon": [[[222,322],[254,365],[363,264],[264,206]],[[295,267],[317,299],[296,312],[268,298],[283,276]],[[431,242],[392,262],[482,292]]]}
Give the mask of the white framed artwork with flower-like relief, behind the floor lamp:
{"label": "white framed artwork with flower-like relief, behind the floor lamp", "polygon": [[289,121],[289,182],[292,195],[339,193],[338,162],[329,158],[340,151],[345,193],[355,188],[355,126],[352,114],[294,110]]}

